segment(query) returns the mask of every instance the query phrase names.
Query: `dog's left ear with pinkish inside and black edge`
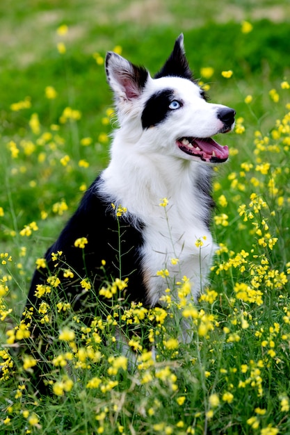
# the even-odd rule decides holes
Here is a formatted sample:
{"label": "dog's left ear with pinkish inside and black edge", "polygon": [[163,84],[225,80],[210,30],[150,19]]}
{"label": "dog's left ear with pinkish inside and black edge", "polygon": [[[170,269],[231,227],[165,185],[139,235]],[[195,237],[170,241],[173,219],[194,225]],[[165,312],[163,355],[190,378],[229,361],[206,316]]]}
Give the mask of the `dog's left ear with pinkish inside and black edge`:
{"label": "dog's left ear with pinkish inside and black edge", "polygon": [[106,55],[106,76],[108,84],[117,97],[133,100],[140,96],[149,72],[144,67],[137,67],[113,51]]}

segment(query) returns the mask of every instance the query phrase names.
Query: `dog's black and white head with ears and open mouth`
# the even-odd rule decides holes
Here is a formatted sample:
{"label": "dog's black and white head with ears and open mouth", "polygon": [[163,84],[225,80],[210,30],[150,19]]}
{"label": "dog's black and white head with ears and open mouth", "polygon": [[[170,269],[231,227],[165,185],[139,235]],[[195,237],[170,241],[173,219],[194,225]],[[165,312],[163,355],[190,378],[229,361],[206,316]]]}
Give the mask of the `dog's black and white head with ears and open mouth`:
{"label": "dog's black and white head with ears and open mouth", "polygon": [[229,156],[228,148],[211,136],[233,129],[235,111],[207,102],[193,80],[183,41],[179,35],[154,78],[144,67],[108,52],[106,75],[115,94],[120,125],[138,131],[136,146],[145,152],[166,149],[167,154],[186,160],[222,163]]}

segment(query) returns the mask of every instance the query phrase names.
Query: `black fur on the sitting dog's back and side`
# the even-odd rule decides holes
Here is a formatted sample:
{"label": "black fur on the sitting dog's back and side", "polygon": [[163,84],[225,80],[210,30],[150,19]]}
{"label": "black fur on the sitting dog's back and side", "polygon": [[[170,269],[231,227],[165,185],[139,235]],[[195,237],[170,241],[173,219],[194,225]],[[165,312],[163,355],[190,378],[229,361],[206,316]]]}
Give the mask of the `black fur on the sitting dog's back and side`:
{"label": "black fur on the sitting dog's back and side", "polygon": [[[102,183],[102,177],[98,177],[92,186],[83,196],[79,208],[67,222],[61,235],[45,254],[47,269],[35,270],[31,288],[29,290],[28,306],[38,306],[40,299],[35,297],[35,290],[38,284],[46,284],[49,274],[58,272],[61,279],[59,288],[65,293],[74,310],[86,311],[86,302],[81,294],[83,289],[80,286],[81,279],[88,277],[98,293],[99,287],[104,283],[104,274],[101,271],[102,260],[106,261],[106,277],[124,279],[129,277],[129,288],[126,296],[130,300],[145,302],[145,286],[141,277],[140,248],[143,245],[142,222],[133,227],[124,218],[118,217],[120,223],[120,238],[118,233],[118,220],[115,217],[113,207],[98,193],[98,186]],[[118,204],[116,204],[118,206]],[[137,229],[139,228],[139,229]],[[99,231],[102,229],[102,231]],[[86,237],[88,244],[81,249],[74,246],[77,238]],[[119,265],[119,241],[122,256],[122,268]],[[59,261],[52,261],[51,254],[63,252]],[[84,256],[84,257],[83,257]],[[58,263],[57,268],[55,264]],[[74,272],[74,278],[63,277],[62,268],[70,268]],[[86,295],[88,296],[88,294]],[[92,300],[90,304],[97,301]],[[96,308],[97,310],[97,308]],[[90,311],[93,311],[93,309]]]}

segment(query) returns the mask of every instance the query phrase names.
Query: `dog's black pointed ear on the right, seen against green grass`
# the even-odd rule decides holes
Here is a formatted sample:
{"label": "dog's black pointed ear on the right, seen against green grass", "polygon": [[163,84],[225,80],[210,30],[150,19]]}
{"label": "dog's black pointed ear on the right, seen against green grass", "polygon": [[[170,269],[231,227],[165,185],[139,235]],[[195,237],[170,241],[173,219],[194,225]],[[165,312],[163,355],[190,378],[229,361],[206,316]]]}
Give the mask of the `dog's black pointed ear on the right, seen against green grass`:
{"label": "dog's black pointed ear on the right, seen against green grass", "polygon": [[154,79],[159,79],[164,76],[177,76],[193,80],[193,73],[191,72],[185,56],[183,34],[179,35],[175,41],[172,53],[160,71],[155,74]]}

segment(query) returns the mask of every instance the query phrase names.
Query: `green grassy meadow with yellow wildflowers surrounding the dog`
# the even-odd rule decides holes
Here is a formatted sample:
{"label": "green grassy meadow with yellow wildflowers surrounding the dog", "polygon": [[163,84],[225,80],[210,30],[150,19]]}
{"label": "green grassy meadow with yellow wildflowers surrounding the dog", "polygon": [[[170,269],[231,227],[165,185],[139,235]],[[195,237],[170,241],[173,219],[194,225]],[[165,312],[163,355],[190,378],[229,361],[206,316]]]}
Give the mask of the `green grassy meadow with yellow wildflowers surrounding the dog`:
{"label": "green grassy meadow with yellow wildflowers surrounding the dog", "polygon": [[[267,0],[0,3],[0,435],[290,434],[289,16],[288,1]],[[33,270],[108,163],[104,56],[154,74],[181,32],[195,78],[237,113],[218,138],[230,158],[214,177],[209,288],[195,305],[186,277],[173,287],[156,270],[164,309],[121,309],[126,283],[106,282],[111,311],[88,325],[51,280],[40,295],[43,327],[54,319],[51,394],[41,395],[20,320]],[[118,326],[133,331],[134,368]]]}

